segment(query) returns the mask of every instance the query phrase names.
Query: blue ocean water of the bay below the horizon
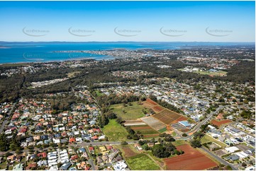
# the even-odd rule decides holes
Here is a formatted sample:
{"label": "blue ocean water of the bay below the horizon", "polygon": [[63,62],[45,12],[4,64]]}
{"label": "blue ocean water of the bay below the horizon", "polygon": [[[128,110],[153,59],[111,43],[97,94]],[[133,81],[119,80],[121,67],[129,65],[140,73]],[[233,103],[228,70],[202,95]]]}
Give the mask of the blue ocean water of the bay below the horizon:
{"label": "blue ocean water of the bay below the horizon", "polygon": [[72,59],[111,59],[97,54],[56,51],[124,49],[179,49],[196,45],[237,45],[223,42],[0,42],[0,64],[65,61]]}

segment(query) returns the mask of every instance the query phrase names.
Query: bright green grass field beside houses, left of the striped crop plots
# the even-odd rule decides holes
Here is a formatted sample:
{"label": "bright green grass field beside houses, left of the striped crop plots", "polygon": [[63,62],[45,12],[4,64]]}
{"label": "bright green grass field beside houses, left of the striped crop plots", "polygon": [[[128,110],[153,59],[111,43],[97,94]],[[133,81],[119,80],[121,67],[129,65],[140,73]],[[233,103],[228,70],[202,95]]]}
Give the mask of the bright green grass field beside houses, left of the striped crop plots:
{"label": "bright green grass field beside houses, left of the striped crop plots", "polygon": [[126,136],[128,136],[126,129],[118,124],[115,119],[109,120],[102,131],[108,137],[108,141],[126,141]]}

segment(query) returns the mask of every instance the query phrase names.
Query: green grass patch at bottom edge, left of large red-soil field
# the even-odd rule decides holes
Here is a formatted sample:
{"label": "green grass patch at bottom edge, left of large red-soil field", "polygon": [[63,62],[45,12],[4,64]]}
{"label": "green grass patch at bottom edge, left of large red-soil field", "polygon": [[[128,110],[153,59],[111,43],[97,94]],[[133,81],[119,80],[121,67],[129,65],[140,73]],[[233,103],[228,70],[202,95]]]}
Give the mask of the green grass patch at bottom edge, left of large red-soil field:
{"label": "green grass patch at bottom edge, left of large red-soil field", "polygon": [[145,154],[135,155],[126,161],[131,170],[160,170],[160,167]]}

